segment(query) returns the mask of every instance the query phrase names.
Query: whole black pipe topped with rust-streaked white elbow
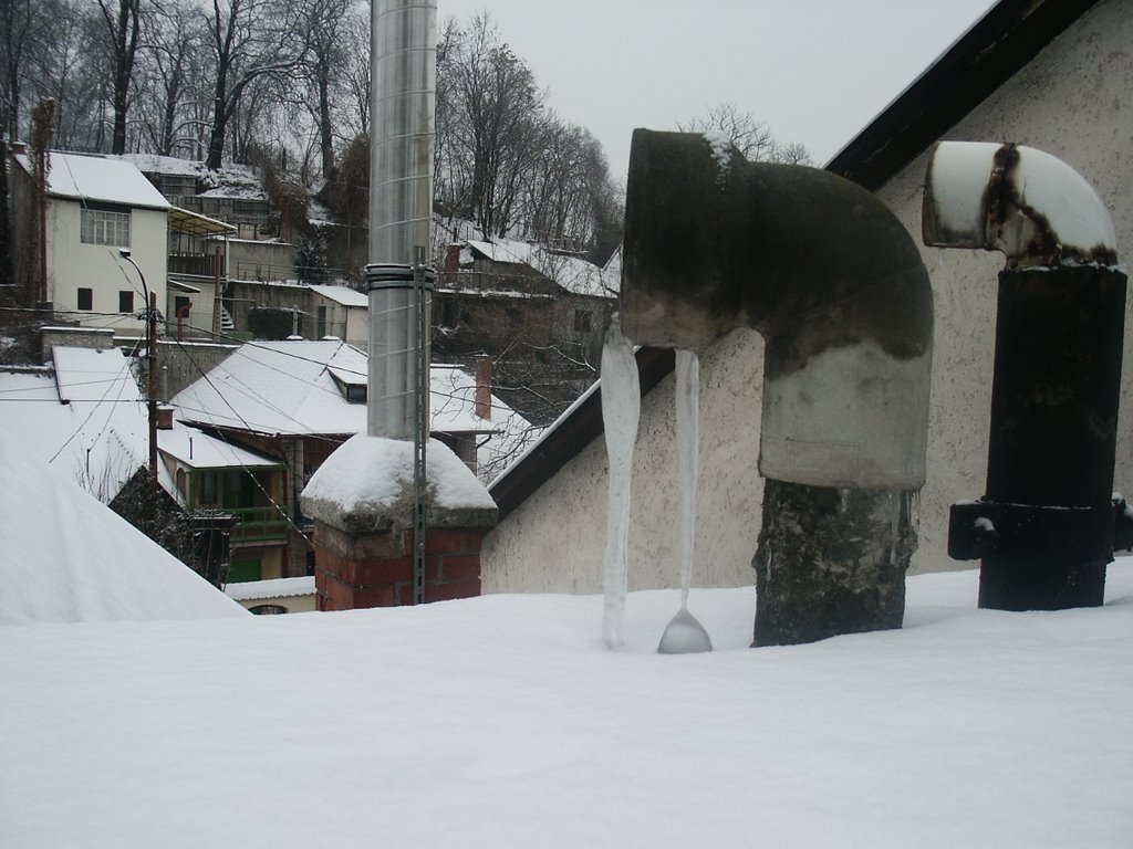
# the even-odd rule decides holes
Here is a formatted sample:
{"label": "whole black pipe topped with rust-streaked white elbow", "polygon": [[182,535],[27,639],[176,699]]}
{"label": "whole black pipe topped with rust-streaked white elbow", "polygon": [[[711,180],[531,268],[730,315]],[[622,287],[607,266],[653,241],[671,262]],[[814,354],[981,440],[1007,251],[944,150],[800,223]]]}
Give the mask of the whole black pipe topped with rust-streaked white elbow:
{"label": "whole black pipe topped with rust-streaked white elbow", "polygon": [[948,554],[979,559],[979,606],[1104,601],[1125,316],[1114,228],[1093,188],[1030,147],[944,142],[929,160],[925,243],[998,250],[987,491],[953,505]]}

